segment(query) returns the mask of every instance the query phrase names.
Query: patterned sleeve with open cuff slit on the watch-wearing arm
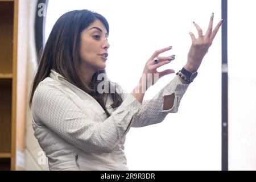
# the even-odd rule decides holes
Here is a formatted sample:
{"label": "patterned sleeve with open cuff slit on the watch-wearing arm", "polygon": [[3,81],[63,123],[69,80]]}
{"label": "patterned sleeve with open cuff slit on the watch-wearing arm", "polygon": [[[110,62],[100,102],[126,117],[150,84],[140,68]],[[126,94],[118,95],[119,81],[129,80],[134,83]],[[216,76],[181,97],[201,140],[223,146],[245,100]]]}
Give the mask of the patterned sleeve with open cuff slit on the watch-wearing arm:
{"label": "patterned sleeve with open cuff slit on the watch-wearing arm", "polygon": [[[160,123],[164,120],[168,113],[176,113],[180,100],[188,88],[188,84],[183,84],[176,76],[170,81],[158,94],[156,94],[151,100],[144,100],[142,107],[138,113],[134,115],[131,127],[143,127],[156,123]],[[164,96],[168,96],[174,93],[174,105],[171,109],[163,110]]]}

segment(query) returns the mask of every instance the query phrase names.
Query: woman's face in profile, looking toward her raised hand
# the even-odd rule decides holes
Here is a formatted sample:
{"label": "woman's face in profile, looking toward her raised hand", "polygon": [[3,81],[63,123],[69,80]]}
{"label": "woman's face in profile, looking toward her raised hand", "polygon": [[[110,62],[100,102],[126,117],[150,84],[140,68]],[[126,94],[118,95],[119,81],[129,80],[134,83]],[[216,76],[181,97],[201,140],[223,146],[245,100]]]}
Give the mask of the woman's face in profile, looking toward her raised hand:
{"label": "woman's face in profile, looking toward her raised hand", "polygon": [[80,69],[82,72],[94,73],[105,69],[110,46],[107,38],[106,28],[98,19],[81,32]]}

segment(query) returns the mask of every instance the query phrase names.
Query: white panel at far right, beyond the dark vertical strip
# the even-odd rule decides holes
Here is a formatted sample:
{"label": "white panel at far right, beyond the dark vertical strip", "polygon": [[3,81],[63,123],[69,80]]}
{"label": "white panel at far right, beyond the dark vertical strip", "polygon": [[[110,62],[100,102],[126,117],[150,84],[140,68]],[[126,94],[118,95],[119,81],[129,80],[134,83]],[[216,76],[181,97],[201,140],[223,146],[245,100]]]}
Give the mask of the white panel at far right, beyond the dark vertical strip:
{"label": "white panel at far right, beyond the dark vertical strip", "polygon": [[256,170],[255,1],[228,1],[229,169]]}

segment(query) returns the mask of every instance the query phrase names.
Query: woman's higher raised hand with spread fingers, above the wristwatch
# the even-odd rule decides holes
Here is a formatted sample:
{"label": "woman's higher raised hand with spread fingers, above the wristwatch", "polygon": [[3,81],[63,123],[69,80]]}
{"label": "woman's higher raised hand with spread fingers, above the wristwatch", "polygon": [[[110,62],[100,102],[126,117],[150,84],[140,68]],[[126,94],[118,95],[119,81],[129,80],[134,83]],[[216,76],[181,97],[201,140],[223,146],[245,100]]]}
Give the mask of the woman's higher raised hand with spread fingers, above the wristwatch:
{"label": "woman's higher raised hand with spread fingers, above the wristwatch", "polygon": [[209,47],[212,45],[213,39],[218,32],[221,24],[223,23],[224,19],[221,19],[218,22],[217,26],[212,30],[213,26],[213,14],[210,16],[210,23],[207,32],[203,35],[202,29],[199,27],[198,24],[193,22],[195,25],[199,37],[196,39],[195,35],[192,32],[189,32],[189,35],[192,39],[192,46],[188,52],[188,61],[185,64],[184,68],[187,69],[189,72],[195,72],[200,67],[200,64],[204,58],[204,55],[208,52]]}

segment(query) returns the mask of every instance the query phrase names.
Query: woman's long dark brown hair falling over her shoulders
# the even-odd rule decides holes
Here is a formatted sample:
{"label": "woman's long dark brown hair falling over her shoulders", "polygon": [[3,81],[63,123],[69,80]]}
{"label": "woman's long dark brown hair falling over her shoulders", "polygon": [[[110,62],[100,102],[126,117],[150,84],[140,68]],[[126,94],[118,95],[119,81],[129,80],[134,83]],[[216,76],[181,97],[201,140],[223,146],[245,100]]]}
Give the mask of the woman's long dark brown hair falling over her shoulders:
{"label": "woman's long dark brown hair falling over her shoulders", "polygon": [[43,81],[44,78],[49,76],[51,69],[54,69],[57,73],[64,76],[65,80],[71,82],[95,98],[108,117],[110,114],[105,107],[105,94],[109,94],[110,97],[112,97],[113,104],[111,106],[113,108],[122,104],[122,98],[116,90],[114,93],[109,92],[100,94],[97,92],[97,86],[101,82],[100,80],[97,80],[97,76],[100,73],[106,73],[105,69],[95,72],[89,85],[85,84],[79,74],[81,31],[87,28],[96,19],[104,24],[106,31],[109,34],[108,21],[104,16],[94,11],[75,10],[60,16],[52,28],[46,46],[38,57],[39,65],[30,93],[30,107],[32,105],[32,98],[36,87],[40,81]]}

